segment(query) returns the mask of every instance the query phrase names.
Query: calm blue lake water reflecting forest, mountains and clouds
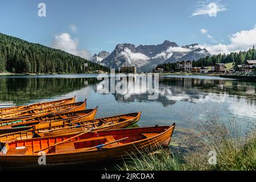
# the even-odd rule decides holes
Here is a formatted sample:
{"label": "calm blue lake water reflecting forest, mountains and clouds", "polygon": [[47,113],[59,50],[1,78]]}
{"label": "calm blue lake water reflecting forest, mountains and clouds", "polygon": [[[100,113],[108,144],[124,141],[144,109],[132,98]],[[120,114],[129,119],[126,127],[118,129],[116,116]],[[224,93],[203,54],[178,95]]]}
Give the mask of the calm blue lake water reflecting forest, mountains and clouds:
{"label": "calm blue lake water reflecting forest, mountains and clouds", "polygon": [[[210,76],[160,76],[159,97],[148,100],[146,88],[130,93],[101,94],[104,81],[97,75],[2,76],[0,101],[18,105],[77,96],[88,100],[88,109],[98,106],[97,117],[142,111],[139,126],[171,125],[190,127],[210,115],[222,121],[256,123],[256,84]],[[130,82],[128,82],[129,88]],[[250,125],[250,126],[249,126]]]}

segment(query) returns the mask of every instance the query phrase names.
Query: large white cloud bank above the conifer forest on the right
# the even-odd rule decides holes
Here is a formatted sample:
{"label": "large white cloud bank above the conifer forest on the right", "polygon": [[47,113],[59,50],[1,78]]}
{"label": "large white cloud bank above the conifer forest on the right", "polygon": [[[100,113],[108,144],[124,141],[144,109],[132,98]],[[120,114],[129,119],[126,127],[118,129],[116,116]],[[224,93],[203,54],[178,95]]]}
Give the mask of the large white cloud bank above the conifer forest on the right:
{"label": "large white cloud bank above the conifer forest on the right", "polygon": [[247,51],[249,48],[256,46],[256,24],[252,30],[242,30],[236,34],[230,35],[229,40],[229,44],[217,44],[214,46],[201,45],[198,47],[206,48],[212,55]]}

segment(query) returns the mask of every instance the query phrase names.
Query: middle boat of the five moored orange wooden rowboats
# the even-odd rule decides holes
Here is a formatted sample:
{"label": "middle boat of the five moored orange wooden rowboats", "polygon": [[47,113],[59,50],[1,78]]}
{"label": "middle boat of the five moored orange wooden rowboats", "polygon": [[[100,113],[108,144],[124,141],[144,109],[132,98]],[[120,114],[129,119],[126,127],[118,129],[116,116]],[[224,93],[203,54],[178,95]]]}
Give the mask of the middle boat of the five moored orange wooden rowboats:
{"label": "middle boat of the five moored orange wooden rowboats", "polygon": [[[78,121],[88,121],[94,119],[97,113],[96,109],[88,109],[88,110],[79,110],[79,111],[69,111],[64,113],[55,113],[48,114],[42,117],[34,117],[28,119],[21,119],[17,121],[5,121],[0,122],[0,134],[14,133],[17,131],[29,130],[33,125],[37,125],[39,123],[52,123],[52,122],[62,122],[65,125],[71,125],[73,122]],[[49,125],[49,128],[52,128],[52,125]]]}

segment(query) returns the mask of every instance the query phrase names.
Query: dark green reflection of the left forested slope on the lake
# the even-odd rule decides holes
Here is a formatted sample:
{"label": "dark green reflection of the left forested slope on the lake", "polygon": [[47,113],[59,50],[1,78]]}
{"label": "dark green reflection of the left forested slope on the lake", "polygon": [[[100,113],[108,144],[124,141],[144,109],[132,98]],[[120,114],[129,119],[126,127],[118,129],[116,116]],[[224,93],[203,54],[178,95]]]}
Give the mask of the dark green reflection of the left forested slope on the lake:
{"label": "dark green reflection of the left forested slope on the lake", "polygon": [[95,78],[0,78],[0,101],[25,104],[34,100],[61,96],[96,82]]}

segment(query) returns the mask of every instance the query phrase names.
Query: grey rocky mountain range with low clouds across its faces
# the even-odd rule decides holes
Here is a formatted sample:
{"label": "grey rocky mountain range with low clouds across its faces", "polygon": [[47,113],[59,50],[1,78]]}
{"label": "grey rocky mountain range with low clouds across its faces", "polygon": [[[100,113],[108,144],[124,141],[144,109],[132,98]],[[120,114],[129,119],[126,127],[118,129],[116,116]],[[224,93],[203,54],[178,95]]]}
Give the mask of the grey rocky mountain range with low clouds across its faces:
{"label": "grey rocky mountain range with low clouds across its faces", "polygon": [[162,44],[150,46],[118,44],[112,53],[101,51],[98,55],[95,54],[91,61],[115,69],[126,65],[135,66],[138,72],[147,72],[158,64],[199,60],[205,56],[210,56],[210,53],[198,44],[178,46],[175,42],[165,40]]}

